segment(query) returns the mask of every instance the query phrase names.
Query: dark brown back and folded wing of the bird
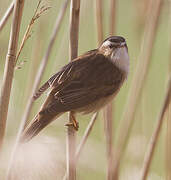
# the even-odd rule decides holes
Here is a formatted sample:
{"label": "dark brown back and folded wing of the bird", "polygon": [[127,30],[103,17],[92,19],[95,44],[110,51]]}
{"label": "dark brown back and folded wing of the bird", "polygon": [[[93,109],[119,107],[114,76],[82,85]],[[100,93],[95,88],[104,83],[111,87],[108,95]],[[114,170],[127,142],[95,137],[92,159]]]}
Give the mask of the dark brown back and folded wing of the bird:
{"label": "dark brown back and folded wing of the bird", "polygon": [[60,113],[82,108],[118,90],[124,74],[98,53],[65,66],[52,83],[51,102],[41,113]]}

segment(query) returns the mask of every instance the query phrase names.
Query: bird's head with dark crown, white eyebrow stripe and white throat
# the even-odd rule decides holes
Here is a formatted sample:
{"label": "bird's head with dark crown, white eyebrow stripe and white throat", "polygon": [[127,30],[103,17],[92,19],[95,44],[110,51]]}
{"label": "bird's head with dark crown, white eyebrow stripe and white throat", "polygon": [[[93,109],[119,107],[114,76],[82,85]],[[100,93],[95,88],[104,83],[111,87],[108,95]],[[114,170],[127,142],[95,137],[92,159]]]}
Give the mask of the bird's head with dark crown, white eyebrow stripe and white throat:
{"label": "bird's head with dark crown, white eyebrow stripe and white throat", "polygon": [[129,55],[126,41],[121,36],[111,36],[105,39],[99,51],[108,59],[110,59],[121,70],[128,73],[129,71]]}

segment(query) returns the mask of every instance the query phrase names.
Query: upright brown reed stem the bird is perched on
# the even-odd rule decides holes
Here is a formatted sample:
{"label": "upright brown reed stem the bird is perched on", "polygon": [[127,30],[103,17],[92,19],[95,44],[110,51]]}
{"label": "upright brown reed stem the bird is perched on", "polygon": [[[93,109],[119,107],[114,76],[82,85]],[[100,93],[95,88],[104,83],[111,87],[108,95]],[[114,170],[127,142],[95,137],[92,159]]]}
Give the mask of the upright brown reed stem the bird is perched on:
{"label": "upright brown reed stem the bird is perched on", "polygon": [[[80,0],[71,0],[70,9],[70,60],[77,57],[78,54],[78,34],[79,34],[79,14]],[[72,122],[71,113],[69,113],[69,122]],[[68,127],[67,133],[67,179],[76,179],[76,132],[72,126]]]}

